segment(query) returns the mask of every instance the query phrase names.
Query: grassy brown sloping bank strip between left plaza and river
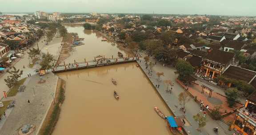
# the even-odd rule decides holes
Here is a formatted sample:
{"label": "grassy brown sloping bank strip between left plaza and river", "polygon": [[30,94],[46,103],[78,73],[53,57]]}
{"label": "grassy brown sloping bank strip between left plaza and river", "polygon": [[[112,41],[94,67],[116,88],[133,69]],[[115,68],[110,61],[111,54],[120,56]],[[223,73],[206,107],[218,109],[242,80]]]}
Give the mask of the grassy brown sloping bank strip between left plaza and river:
{"label": "grassy brown sloping bank strip between left plaza and river", "polygon": [[37,135],[51,135],[60,116],[61,105],[65,99],[65,81],[59,79],[56,87],[55,101],[52,102],[51,107],[44,119],[44,123]]}

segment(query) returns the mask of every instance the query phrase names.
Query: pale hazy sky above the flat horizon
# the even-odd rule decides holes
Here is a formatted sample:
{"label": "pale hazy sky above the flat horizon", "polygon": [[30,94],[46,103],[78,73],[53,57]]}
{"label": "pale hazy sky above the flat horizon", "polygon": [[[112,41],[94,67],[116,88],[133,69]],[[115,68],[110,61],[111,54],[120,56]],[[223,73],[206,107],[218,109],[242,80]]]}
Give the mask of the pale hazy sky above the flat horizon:
{"label": "pale hazy sky above the flat horizon", "polygon": [[105,12],[256,16],[256,0],[0,0],[0,12]]}

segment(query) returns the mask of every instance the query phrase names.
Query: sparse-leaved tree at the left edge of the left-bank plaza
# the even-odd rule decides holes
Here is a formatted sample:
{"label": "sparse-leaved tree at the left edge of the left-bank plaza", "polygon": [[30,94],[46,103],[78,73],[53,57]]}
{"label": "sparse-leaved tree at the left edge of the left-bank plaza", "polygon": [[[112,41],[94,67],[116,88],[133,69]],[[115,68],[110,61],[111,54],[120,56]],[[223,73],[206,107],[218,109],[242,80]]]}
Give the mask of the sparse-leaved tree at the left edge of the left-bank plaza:
{"label": "sparse-leaved tree at the left edge of the left-bank plaza", "polygon": [[7,76],[7,79],[4,79],[4,81],[6,82],[6,85],[11,88],[15,83],[18,82],[18,79],[20,78],[20,76],[23,74],[23,71],[20,69],[16,69],[16,67],[12,67],[12,71],[7,71],[9,74]]}

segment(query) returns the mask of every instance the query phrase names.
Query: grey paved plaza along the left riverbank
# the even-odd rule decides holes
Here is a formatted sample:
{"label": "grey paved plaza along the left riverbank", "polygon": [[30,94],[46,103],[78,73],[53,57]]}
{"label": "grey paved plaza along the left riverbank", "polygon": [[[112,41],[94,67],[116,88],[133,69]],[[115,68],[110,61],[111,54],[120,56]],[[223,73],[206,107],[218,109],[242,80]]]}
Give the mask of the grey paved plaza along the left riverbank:
{"label": "grey paved plaza along the left riverbank", "polygon": [[[15,98],[15,107],[7,109],[7,118],[0,121],[0,135],[18,135],[18,130],[24,124],[36,125],[36,131],[52,103],[51,92],[56,91],[58,77],[52,73],[44,75],[45,83],[38,83],[40,76],[33,75],[28,78],[24,92],[18,92]],[[28,103],[28,99],[30,103]]]}

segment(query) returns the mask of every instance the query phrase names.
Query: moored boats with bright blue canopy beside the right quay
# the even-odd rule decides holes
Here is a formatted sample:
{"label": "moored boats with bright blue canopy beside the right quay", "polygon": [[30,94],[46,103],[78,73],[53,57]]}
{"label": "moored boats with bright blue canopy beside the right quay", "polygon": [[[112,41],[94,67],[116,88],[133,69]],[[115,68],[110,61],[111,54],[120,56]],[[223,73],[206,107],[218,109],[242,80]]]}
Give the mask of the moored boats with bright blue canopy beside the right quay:
{"label": "moored boats with bright blue canopy beside the right quay", "polygon": [[164,115],[164,113],[160,111],[158,107],[154,107],[154,110],[162,119],[168,122],[168,127],[174,135],[176,135],[177,132],[179,132],[181,135],[185,135],[184,131],[182,130],[184,123],[181,121],[181,119]]}

